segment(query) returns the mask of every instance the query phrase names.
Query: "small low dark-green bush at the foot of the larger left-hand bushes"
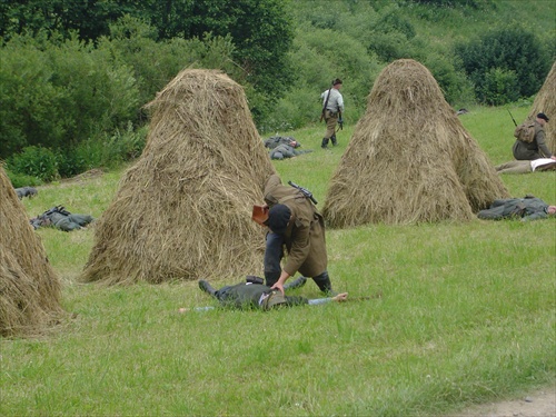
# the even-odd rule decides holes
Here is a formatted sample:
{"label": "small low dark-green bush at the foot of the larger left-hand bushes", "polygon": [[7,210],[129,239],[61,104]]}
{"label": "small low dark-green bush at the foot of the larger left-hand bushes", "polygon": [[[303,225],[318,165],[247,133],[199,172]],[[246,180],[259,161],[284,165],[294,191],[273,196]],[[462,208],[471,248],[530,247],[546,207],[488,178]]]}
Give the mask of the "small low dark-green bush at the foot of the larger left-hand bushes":
{"label": "small low dark-green bush at the foot of the larger left-hand bushes", "polygon": [[8,158],[6,166],[16,175],[36,177],[46,182],[59,178],[56,155],[42,147],[23,148],[20,153]]}

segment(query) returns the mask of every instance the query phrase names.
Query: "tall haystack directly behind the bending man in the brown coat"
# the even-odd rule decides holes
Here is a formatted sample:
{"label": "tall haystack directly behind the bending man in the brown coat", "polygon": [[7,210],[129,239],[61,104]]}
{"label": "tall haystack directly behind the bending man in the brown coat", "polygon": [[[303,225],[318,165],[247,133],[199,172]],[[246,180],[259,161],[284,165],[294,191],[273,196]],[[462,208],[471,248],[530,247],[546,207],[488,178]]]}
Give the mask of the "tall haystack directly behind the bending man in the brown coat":
{"label": "tall haystack directly behind the bending man in the brown coat", "polygon": [[242,88],[183,70],[148,105],[147,146],[96,226],[85,281],[217,279],[261,270],[251,221],[275,172]]}

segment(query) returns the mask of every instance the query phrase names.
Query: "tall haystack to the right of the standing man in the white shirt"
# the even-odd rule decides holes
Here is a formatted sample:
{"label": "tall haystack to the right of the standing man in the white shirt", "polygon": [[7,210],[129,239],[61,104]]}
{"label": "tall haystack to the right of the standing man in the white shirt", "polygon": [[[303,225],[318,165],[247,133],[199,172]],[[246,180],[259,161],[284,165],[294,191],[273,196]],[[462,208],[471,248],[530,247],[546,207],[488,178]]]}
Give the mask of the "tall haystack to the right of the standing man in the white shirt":
{"label": "tall haystack to the right of the standing man in the white shirt", "polygon": [[322,214],[332,227],[469,220],[505,197],[433,75],[401,59],[375,81]]}

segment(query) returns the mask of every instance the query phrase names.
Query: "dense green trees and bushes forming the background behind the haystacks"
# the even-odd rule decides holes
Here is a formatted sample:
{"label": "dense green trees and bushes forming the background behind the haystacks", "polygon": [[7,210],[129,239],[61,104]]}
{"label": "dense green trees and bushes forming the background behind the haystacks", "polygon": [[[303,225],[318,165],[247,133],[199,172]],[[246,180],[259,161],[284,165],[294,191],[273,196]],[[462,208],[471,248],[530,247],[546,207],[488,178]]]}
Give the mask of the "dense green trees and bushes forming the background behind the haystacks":
{"label": "dense green trees and bushes forming the background behind the haystacks", "polygon": [[423,33],[424,22],[457,26],[460,14],[478,19],[503,7],[0,0],[0,158],[12,181],[27,182],[18,176],[51,180],[135,158],[145,143],[142,107],[188,67],[220,69],[242,85],[262,135],[317,121],[318,97],[336,77],[345,80],[347,115],[356,121],[376,76],[399,58],[427,66],[454,106],[527,99],[554,61],[554,24],[544,38],[526,21],[453,42]]}

